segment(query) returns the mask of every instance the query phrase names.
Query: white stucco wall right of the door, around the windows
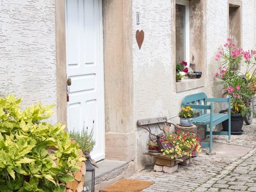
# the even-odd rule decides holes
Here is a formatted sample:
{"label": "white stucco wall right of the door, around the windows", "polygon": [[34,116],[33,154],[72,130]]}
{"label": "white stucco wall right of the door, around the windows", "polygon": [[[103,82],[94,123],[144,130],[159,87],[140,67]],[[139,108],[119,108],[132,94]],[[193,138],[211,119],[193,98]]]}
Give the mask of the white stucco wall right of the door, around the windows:
{"label": "white stucco wall right of the door, around the windows", "polygon": [[[205,92],[209,97],[220,97],[220,89],[214,86],[214,72],[220,67],[215,59],[218,48],[228,36],[227,0],[206,1],[206,44],[205,44],[205,86],[195,90],[175,93],[175,58],[172,36],[175,24],[172,19],[173,1],[133,0],[133,86],[134,86],[134,126],[141,118],[157,116],[176,116],[180,102],[185,95]],[[255,41],[255,21],[249,20],[255,12],[253,0],[243,0],[243,44],[251,49]],[[136,12],[141,14],[141,24],[136,24]],[[143,29],[145,40],[138,49],[135,32]],[[218,111],[220,106],[215,106]],[[178,118],[172,121],[177,122]],[[136,131],[136,161],[138,168],[150,162],[143,155],[147,146],[148,133],[140,128]]]}

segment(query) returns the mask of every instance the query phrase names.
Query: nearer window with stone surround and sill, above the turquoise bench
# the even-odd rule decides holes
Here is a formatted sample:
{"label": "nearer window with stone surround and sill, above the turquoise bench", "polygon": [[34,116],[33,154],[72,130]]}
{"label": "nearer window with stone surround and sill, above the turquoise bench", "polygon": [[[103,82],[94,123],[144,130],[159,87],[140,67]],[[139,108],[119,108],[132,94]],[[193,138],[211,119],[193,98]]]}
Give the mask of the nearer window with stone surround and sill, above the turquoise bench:
{"label": "nearer window with stone surround and sill, above the turquoise bench", "polygon": [[173,28],[175,25],[173,39],[175,38],[176,42],[175,53],[173,53],[173,56],[176,57],[175,64],[186,61],[187,66],[191,67],[193,71],[202,72],[200,79],[184,79],[177,82],[176,92],[178,93],[202,87],[205,83],[206,1],[176,0],[173,2],[173,12],[175,12],[175,20],[173,20]]}

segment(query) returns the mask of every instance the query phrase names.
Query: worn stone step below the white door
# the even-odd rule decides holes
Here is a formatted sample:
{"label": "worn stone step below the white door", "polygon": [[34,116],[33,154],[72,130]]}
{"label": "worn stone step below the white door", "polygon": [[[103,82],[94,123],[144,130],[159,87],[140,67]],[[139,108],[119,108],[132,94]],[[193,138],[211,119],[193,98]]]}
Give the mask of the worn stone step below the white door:
{"label": "worn stone step below the white door", "polygon": [[95,191],[113,184],[114,182],[131,176],[135,172],[133,161],[116,161],[104,159],[97,162],[99,168],[95,168]]}

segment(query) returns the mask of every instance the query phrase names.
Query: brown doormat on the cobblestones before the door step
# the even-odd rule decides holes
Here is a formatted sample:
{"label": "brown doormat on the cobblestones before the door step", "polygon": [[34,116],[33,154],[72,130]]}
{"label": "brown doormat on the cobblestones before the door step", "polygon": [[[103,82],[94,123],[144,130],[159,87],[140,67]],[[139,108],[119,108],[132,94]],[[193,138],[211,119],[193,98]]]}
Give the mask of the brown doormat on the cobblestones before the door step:
{"label": "brown doormat on the cobblestones before the door step", "polygon": [[152,181],[123,179],[114,184],[106,186],[100,192],[139,192],[154,184]]}

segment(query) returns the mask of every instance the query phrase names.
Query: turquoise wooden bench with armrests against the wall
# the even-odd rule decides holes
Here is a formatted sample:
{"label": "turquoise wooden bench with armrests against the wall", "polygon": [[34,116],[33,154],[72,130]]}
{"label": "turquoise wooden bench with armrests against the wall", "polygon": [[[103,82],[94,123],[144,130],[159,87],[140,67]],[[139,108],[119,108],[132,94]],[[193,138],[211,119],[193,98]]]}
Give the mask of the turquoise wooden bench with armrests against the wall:
{"label": "turquoise wooden bench with armrests against the wall", "polygon": [[[228,103],[228,113],[213,113],[212,102],[227,102]],[[212,135],[227,135],[228,142],[231,139],[230,131],[230,96],[228,98],[207,98],[205,93],[196,93],[184,97],[182,100],[182,106],[190,106],[193,109],[197,109],[198,115],[193,118],[193,124],[195,125],[205,125],[205,136],[209,136],[209,143],[202,143],[202,147],[209,147],[209,155],[212,153]],[[209,113],[208,113],[209,111]],[[212,127],[228,120],[228,131],[212,131]],[[207,131],[207,126],[209,131]]]}

